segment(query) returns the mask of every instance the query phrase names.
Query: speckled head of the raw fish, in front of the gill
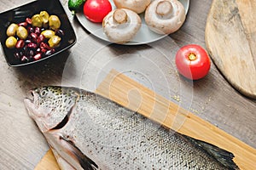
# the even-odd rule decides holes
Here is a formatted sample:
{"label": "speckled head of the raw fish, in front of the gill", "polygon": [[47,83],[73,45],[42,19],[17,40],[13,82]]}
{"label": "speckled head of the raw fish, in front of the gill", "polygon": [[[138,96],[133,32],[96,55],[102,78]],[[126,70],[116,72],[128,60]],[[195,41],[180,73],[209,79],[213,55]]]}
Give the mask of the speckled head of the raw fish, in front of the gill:
{"label": "speckled head of the raw fish, in front of the gill", "polygon": [[29,116],[45,133],[57,127],[70,114],[79,98],[75,88],[42,87],[31,90],[31,98],[24,99]]}

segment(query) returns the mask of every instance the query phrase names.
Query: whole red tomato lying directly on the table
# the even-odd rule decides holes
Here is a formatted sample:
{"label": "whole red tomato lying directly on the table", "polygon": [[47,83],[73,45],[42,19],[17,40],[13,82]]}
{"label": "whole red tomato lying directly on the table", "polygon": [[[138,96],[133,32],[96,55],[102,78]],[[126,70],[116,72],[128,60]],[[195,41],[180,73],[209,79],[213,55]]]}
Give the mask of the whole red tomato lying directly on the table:
{"label": "whole red tomato lying directly on the table", "polygon": [[204,48],[190,44],[183,46],[176,54],[177,71],[183,77],[198,80],[207,76],[211,67],[211,60]]}

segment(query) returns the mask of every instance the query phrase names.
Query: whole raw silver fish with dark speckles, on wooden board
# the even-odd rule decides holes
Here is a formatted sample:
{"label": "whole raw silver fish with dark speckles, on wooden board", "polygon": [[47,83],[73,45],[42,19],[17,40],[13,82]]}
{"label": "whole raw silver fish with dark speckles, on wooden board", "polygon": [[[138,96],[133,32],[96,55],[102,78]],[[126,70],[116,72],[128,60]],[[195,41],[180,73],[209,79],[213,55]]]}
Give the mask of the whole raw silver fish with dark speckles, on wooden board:
{"label": "whole raw silver fish with dark speckles, on wooden board", "polygon": [[79,88],[25,99],[61,169],[238,169],[233,154]]}

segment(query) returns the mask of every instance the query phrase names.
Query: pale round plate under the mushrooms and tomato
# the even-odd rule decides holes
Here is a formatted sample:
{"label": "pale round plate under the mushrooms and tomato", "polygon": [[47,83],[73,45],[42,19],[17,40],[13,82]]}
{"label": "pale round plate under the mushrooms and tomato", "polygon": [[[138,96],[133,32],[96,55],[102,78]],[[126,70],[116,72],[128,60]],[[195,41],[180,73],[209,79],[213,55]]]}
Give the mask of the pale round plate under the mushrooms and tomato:
{"label": "pale round plate under the mushrooms and tomato", "polygon": [[[183,3],[183,6],[187,14],[189,10],[189,0],[179,0],[179,1]],[[109,2],[112,4],[112,7],[115,8],[113,1],[109,0]],[[84,26],[84,28],[87,31],[90,31],[90,33],[93,34],[94,36],[109,42],[108,37],[104,34],[102,30],[102,23],[94,23],[94,22],[91,22],[90,20],[87,20],[86,17],[84,17],[83,13],[77,13],[76,16],[80,24]],[[167,35],[156,34],[153,31],[149,30],[148,26],[145,24],[144,14],[140,14],[140,16],[142,18],[142,23],[143,23],[141,29],[137,32],[137,35],[130,42],[126,42],[124,45],[139,45],[139,44],[144,44],[149,42],[155,42],[167,36]]]}

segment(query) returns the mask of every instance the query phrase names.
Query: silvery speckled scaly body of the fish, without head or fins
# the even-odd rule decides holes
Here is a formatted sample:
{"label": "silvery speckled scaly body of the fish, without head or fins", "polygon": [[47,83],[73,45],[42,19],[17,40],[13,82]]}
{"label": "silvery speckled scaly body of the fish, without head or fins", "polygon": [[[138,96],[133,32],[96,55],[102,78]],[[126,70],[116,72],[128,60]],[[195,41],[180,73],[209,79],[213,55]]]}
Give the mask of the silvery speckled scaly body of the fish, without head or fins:
{"label": "silvery speckled scaly body of the fish, without head or fins", "polygon": [[225,169],[182,135],[90,93],[61,129],[99,169]]}

